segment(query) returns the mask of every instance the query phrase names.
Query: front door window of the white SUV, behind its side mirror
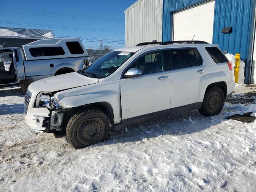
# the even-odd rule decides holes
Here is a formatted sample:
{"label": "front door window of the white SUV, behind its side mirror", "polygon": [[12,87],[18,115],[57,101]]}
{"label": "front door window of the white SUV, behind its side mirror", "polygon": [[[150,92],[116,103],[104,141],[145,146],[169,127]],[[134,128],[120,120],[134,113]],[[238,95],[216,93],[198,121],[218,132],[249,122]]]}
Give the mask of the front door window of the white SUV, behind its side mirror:
{"label": "front door window of the white SUV, behind its side mirror", "polygon": [[138,58],[128,69],[138,68],[142,75],[170,70],[166,50],[151,52]]}

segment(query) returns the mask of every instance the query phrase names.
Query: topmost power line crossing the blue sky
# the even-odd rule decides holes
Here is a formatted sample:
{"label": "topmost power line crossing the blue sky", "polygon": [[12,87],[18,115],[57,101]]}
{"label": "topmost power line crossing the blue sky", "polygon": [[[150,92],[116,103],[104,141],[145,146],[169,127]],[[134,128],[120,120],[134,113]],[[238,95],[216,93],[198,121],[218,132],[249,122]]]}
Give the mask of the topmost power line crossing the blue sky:
{"label": "topmost power line crossing the blue sky", "polygon": [[88,16],[88,15],[82,15],[82,14],[70,14],[70,13],[61,13],[61,12],[50,12],[50,11],[42,11],[42,10],[34,10],[34,9],[27,9],[27,8],[17,8],[17,7],[7,7],[7,6],[1,6],[5,9],[10,9],[10,10],[26,10],[26,12],[28,12],[28,10],[30,12],[37,12],[37,13],[41,13],[41,14],[45,14],[47,13],[51,13],[51,14],[58,14],[58,15],[62,15],[62,16],[66,16],[66,15],[70,15],[73,17],[89,17],[89,18],[98,18],[98,19],[104,19],[104,20],[120,20],[120,21],[124,21],[124,19],[120,19],[120,18],[108,18],[108,17],[99,17],[99,16]]}

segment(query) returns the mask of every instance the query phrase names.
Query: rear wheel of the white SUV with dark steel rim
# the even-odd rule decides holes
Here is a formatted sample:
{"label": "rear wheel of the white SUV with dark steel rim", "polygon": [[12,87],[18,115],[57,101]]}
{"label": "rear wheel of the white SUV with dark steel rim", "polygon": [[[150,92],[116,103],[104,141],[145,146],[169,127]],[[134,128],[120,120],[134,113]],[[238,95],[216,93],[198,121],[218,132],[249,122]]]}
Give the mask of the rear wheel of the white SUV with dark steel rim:
{"label": "rear wheel of the white SUV with dark steel rim", "polygon": [[223,91],[218,87],[210,88],[204,95],[202,107],[198,111],[205,116],[217,115],[225,102]]}

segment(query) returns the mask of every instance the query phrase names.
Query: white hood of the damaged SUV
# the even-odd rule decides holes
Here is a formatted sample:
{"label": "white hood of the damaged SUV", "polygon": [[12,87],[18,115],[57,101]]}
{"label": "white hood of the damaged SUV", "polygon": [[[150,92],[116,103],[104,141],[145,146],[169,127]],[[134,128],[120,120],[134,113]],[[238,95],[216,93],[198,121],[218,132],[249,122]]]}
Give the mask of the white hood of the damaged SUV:
{"label": "white hood of the damaged SUV", "polygon": [[35,81],[28,86],[28,90],[32,92],[32,97],[35,97],[34,94],[38,94],[42,91],[56,92],[98,82],[99,80],[96,78],[90,78],[78,72],[72,72]]}

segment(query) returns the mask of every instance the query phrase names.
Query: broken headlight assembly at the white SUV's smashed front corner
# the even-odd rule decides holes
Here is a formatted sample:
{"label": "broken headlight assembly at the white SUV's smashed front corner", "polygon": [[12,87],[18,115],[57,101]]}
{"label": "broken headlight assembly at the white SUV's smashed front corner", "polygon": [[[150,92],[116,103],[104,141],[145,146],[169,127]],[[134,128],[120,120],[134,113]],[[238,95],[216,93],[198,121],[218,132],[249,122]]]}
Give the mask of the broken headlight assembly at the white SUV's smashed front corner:
{"label": "broken headlight assembly at the white SUV's smashed front corner", "polygon": [[50,92],[40,92],[36,97],[36,107],[46,107],[49,109],[59,109],[60,103]]}

